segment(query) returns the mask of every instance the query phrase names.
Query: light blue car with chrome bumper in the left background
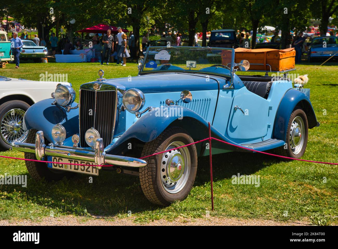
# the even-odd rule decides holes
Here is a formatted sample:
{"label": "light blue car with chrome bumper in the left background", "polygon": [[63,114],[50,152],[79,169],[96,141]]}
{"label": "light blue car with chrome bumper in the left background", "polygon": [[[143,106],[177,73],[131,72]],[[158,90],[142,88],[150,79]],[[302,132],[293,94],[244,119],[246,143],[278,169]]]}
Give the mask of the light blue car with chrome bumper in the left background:
{"label": "light blue car with chrome bumper in the left background", "polygon": [[31,59],[34,62],[41,62],[41,58],[47,56],[47,48],[44,46],[38,46],[33,41],[22,40],[22,48],[20,49],[20,59]]}

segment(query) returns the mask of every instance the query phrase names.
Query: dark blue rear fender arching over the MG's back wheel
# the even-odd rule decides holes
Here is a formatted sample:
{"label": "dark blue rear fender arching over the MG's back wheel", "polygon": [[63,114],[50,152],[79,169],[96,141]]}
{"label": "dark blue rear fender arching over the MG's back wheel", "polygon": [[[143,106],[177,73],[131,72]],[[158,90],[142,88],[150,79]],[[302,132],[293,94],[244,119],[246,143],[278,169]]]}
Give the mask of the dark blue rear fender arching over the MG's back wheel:
{"label": "dark blue rear fender arching over the MG's back wheel", "polygon": [[[308,95],[310,95],[308,93]],[[300,106],[308,118],[309,129],[319,126],[317,122],[315,112],[311,105],[310,98],[304,92],[296,90],[294,88],[289,89],[283,96],[274,122],[273,137],[285,141],[286,130],[288,129],[288,123],[296,106]]]}

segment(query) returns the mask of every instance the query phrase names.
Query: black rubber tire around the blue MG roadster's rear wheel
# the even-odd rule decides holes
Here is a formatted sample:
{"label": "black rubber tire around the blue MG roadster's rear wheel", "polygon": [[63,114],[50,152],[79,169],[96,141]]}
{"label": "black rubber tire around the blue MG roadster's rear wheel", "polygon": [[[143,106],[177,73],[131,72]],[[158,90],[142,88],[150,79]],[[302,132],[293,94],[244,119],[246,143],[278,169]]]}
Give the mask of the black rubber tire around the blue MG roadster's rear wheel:
{"label": "black rubber tire around the blue MG roadster's rear wheel", "polygon": [[[305,134],[303,134],[304,136],[304,144],[303,144],[303,148],[301,149],[301,151],[295,155],[292,153],[292,150],[291,150],[291,146],[290,146],[290,141],[288,139],[288,134],[289,134],[289,131],[291,129],[291,124],[292,124],[292,121],[295,117],[301,117],[304,121],[304,126],[305,126]],[[286,136],[286,144],[287,144],[287,149],[284,149],[284,146],[281,146],[279,148],[276,148],[273,152],[277,155],[280,155],[280,156],[285,156],[285,157],[291,157],[291,158],[301,158],[304,153],[305,153],[305,150],[306,150],[306,145],[308,143],[308,134],[309,134],[309,126],[308,126],[308,118],[305,114],[305,112],[303,111],[303,109],[301,109],[300,107],[295,107],[294,111],[291,113],[291,116],[290,116],[290,119],[289,119],[289,123],[288,123],[288,129],[287,129],[287,136]]]}

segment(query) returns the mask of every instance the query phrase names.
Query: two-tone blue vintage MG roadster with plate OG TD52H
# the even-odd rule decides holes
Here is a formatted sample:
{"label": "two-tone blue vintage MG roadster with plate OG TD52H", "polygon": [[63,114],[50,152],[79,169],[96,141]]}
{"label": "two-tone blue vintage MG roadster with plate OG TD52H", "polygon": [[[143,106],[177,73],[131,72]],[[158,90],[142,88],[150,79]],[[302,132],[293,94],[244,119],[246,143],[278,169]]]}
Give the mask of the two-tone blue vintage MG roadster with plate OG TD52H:
{"label": "two-tone blue vintage MG roadster with plate OG TD52H", "polygon": [[[208,122],[215,138],[301,157],[308,129],[319,125],[309,89],[271,76],[237,75],[249,63],[236,64],[234,56],[230,48],[149,47],[136,77],[105,79],[100,70],[100,78],[80,86],[79,104],[75,91],[60,85],[52,98],[32,105],[24,116],[28,138],[14,142],[14,149],[53,162],[26,161],[36,180],[116,170],[138,176],[145,196],[159,205],[189,194],[197,158],[209,155],[208,141],[175,148],[209,137]],[[213,153],[247,152],[212,145]]]}

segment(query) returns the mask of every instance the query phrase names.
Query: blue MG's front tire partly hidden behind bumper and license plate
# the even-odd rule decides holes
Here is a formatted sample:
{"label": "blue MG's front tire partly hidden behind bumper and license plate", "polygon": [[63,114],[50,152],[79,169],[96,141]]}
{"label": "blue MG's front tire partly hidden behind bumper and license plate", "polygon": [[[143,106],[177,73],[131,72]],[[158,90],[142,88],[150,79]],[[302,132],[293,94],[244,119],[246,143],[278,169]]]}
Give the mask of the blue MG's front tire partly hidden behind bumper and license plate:
{"label": "blue MG's front tire partly hidden behind bumper and license plate", "polygon": [[[34,143],[35,144],[35,134],[37,130],[30,130],[26,143]],[[46,138],[45,138],[46,141]],[[25,152],[25,159],[33,159],[37,160],[35,154]],[[46,181],[59,181],[64,177],[71,178],[75,173],[67,172],[58,169],[50,169],[47,167],[47,163],[44,162],[34,162],[34,161],[25,161],[26,168],[28,173],[35,181],[40,181],[45,179]]]}

